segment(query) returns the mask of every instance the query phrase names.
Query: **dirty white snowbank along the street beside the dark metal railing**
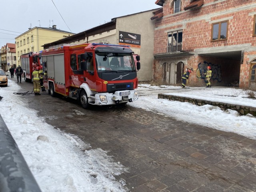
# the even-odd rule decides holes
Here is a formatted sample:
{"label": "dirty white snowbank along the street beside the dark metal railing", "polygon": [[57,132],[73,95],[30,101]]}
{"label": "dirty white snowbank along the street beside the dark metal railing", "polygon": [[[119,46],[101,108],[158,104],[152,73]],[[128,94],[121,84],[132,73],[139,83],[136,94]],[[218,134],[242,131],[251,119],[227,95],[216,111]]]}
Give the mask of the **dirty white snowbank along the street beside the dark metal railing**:
{"label": "dirty white snowbank along the street beside the dark metal railing", "polygon": [[[125,171],[120,163],[113,162],[106,151],[90,149],[76,136],[46,124],[13,94],[19,87],[12,80],[8,87],[0,87],[1,116],[42,192],[126,191],[125,181],[114,180],[114,175]],[[40,135],[49,142],[37,140]]]}

